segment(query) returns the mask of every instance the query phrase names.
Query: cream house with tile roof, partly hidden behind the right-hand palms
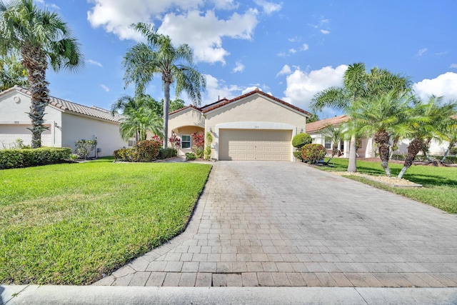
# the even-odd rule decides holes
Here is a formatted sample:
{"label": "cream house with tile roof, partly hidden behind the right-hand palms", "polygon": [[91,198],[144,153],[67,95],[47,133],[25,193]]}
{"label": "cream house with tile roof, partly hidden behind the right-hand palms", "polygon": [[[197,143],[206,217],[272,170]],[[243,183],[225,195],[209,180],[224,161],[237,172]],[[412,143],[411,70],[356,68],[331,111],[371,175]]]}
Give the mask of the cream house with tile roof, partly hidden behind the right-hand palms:
{"label": "cream house with tile roof, partly hidden behind the right-hand palms", "polygon": [[[343,124],[344,122],[348,121],[349,118],[346,115],[342,116],[334,116],[333,118],[330,119],[323,119],[320,121],[315,121],[312,123],[306,124],[306,133],[311,136],[313,139],[313,143],[316,144],[322,144],[325,146],[327,150],[327,155],[330,156],[332,149],[333,149],[333,143],[331,142],[330,139],[326,138],[326,136],[323,134],[323,129],[326,128],[326,126],[332,125],[332,126],[339,126],[340,124]],[[408,150],[408,144],[411,140],[410,139],[401,139],[398,141],[398,149],[396,151],[393,151],[393,154],[406,154]],[[444,152],[446,151],[448,147],[448,142],[442,142],[440,143],[439,141],[436,141],[433,139],[431,141],[431,146],[430,146],[430,151],[429,154],[431,156],[442,156]],[[345,149],[347,148],[347,149]],[[338,143],[338,152],[343,156],[344,158],[349,157],[349,141],[345,139],[341,139],[340,143]],[[373,158],[377,155],[377,150],[375,143],[373,141],[373,138],[370,137],[368,139],[359,139],[357,143],[357,156],[360,158]]]}

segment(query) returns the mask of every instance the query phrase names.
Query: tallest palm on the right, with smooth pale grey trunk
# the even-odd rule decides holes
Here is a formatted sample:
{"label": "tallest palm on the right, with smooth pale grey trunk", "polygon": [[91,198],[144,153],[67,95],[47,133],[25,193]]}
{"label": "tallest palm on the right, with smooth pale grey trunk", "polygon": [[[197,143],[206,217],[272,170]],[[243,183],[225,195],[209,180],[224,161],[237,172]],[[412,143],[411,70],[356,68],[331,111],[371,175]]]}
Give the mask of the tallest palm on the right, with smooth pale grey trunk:
{"label": "tallest palm on the right, with smooth pale grey trunk", "polygon": [[[348,66],[344,73],[343,86],[330,87],[313,96],[311,109],[321,111],[324,107],[346,111],[359,99],[385,94],[389,91],[404,90],[411,85],[408,77],[393,74],[386,69],[371,69],[366,73],[365,64],[356,63]],[[348,171],[357,171],[356,135],[351,135],[349,146]]]}

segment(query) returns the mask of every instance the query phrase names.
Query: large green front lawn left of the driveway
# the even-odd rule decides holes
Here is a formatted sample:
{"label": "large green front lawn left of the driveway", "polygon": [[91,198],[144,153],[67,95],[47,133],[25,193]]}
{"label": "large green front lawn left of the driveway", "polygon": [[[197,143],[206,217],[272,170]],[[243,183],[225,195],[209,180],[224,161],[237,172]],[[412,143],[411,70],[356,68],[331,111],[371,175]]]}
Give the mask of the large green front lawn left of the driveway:
{"label": "large green front lawn left of the driveway", "polygon": [[110,159],[0,171],[0,284],[91,284],[179,234],[211,166]]}

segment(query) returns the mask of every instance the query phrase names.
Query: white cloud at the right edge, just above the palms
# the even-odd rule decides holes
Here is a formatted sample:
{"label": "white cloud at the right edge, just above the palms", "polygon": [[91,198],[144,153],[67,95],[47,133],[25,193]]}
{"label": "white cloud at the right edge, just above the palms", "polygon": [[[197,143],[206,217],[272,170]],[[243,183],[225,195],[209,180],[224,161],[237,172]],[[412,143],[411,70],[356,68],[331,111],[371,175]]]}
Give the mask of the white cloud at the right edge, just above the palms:
{"label": "white cloud at the right edge, just above the palms", "polygon": [[433,94],[435,96],[444,96],[447,101],[449,99],[457,99],[457,73],[446,72],[438,75],[435,79],[424,79],[416,84],[413,84],[413,89],[416,95],[423,100]]}

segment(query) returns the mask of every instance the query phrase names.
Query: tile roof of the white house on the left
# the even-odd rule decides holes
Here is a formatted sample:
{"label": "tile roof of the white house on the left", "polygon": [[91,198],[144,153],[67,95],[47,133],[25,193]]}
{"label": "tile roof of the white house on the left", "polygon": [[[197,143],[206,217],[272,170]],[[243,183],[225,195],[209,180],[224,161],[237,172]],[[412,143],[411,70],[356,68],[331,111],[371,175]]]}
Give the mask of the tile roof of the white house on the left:
{"label": "tile roof of the white house on the left", "polygon": [[[29,89],[25,89],[20,86],[14,86],[11,89],[16,89],[17,91],[20,91],[21,93],[31,96],[31,92],[29,91]],[[84,114],[86,116],[92,116],[94,118],[104,119],[107,121],[120,122],[122,119],[125,119],[125,116],[123,116],[122,114],[114,114],[114,116],[113,116],[113,115],[111,115],[111,111],[109,111],[109,110],[102,109],[102,108],[99,108],[96,106],[89,107],[89,106],[84,106],[81,104],[76,104],[72,101],[58,99],[54,96],[49,96],[49,104],[51,106],[56,107],[57,109],[61,109],[64,111],[71,111],[71,112],[75,112],[77,114]]]}

